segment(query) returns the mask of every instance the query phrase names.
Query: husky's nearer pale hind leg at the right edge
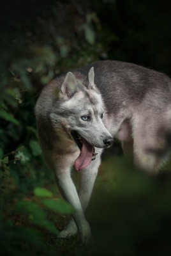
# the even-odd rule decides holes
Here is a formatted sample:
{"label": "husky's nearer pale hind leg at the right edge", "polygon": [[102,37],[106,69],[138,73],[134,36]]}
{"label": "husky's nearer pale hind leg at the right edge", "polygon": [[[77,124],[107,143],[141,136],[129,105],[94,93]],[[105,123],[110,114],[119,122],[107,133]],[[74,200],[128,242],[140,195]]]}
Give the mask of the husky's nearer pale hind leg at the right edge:
{"label": "husky's nearer pale hind leg at the right edge", "polygon": [[134,163],[141,170],[157,173],[169,155],[163,122],[154,115],[136,116],[133,122]]}

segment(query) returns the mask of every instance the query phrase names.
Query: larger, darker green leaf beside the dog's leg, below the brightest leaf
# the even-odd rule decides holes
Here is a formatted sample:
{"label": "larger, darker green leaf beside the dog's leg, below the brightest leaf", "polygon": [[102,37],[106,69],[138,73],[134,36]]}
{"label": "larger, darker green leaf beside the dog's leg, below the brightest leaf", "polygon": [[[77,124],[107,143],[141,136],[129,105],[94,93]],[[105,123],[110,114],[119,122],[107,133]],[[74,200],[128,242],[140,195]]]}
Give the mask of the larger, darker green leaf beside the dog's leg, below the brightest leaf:
{"label": "larger, darker green leaf beside the dog's leg, below the brightest leaf", "polygon": [[59,212],[61,214],[73,213],[73,207],[64,200],[56,199],[43,199],[42,204],[48,207],[48,209]]}

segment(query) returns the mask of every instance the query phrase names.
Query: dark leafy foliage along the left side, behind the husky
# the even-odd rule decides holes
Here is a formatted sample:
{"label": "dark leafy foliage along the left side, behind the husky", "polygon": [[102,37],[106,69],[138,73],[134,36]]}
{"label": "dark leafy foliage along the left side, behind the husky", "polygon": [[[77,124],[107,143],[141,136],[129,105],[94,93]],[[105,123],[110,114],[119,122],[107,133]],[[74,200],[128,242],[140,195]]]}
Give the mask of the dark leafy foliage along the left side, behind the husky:
{"label": "dark leafy foliage along the left side, behind the husky", "polygon": [[50,183],[55,187],[54,177],[41,155],[34,105],[42,86],[56,74],[74,63],[75,67],[87,63],[87,56],[89,61],[98,56],[101,46],[97,50],[95,42],[100,21],[81,5],[32,2],[29,6],[34,7],[27,10],[22,1],[20,11],[13,3],[9,8],[7,2],[1,9],[6,26],[0,43],[1,252],[28,255],[30,250],[34,254],[47,250],[53,255],[43,237],[46,232],[58,234],[49,216],[70,215],[73,209],[59,193],[55,196],[49,190]]}

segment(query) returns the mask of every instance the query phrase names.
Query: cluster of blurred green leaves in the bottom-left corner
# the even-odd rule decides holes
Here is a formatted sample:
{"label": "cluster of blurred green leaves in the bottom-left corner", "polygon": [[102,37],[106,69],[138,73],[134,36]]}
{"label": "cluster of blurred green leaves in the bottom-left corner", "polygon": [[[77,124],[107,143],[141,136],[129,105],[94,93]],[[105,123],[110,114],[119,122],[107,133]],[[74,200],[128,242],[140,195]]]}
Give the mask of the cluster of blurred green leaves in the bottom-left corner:
{"label": "cluster of blurred green leaves in the bottom-left corner", "polygon": [[[48,197],[50,199],[47,199]],[[48,189],[34,188],[34,196],[15,202],[11,211],[8,218],[1,212],[1,252],[28,255],[27,252],[24,252],[27,244],[37,252],[48,250],[48,255],[54,255],[55,251],[45,244],[40,228],[44,232],[57,236],[59,231],[54,225],[54,221],[48,220],[48,212],[71,214],[73,209],[63,200],[54,199],[53,193]],[[18,214],[20,214],[20,218],[15,220],[13,216]],[[10,247],[7,246],[8,243],[10,243]]]}

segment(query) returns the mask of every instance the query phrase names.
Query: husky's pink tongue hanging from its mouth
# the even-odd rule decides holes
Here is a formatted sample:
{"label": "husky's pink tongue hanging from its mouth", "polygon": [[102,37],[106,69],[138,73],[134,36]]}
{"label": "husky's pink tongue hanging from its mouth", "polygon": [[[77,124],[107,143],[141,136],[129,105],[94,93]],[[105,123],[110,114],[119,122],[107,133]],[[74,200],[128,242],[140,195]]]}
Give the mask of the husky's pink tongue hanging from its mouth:
{"label": "husky's pink tongue hanging from its mouth", "polygon": [[87,165],[91,163],[91,159],[93,157],[93,148],[94,147],[91,146],[87,141],[83,141],[80,155],[74,162],[75,169],[77,171],[81,170],[82,168],[85,168]]}

